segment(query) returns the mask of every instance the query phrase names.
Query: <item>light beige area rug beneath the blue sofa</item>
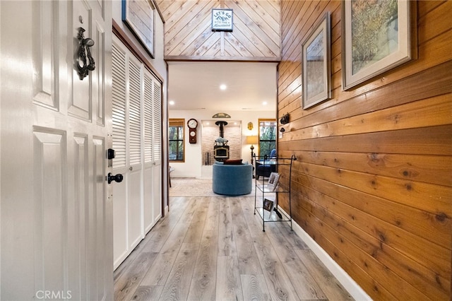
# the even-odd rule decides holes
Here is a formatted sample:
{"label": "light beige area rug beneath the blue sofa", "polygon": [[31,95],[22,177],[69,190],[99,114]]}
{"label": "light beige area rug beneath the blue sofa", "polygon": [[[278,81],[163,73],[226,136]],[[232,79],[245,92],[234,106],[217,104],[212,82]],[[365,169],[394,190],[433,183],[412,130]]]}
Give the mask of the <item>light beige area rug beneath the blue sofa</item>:
{"label": "light beige area rug beneath the blue sofa", "polygon": [[[244,196],[254,196],[254,180],[253,189],[250,194]],[[260,192],[260,191],[258,191]],[[171,187],[169,187],[169,196],[219,196],[212,190],[212,179],[196,179],[196,178],[172,178]],[[261,194],[258,194],[261,195]]]}

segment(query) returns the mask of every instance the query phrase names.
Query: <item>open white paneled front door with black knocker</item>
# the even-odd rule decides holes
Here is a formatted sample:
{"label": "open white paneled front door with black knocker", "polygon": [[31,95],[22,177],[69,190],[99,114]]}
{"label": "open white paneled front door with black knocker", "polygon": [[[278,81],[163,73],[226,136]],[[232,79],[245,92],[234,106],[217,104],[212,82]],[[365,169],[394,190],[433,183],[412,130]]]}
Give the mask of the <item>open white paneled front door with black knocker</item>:
{"label": "open white paneled front door with black knocker", "polygon": [[0,1],[1,300],[113,298],[111,5]]}

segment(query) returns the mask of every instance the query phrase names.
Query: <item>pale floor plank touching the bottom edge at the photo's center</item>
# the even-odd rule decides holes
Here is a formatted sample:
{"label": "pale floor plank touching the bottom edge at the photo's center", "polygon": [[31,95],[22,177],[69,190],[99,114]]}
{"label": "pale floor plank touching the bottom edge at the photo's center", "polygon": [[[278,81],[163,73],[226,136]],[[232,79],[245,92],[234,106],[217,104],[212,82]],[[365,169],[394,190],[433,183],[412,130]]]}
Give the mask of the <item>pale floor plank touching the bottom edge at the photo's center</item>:
{"label": "pale floor plank touching the bottom edge at the photo's center", "polygon": [[244,300],[237,256],[218,256],[215,300]]}

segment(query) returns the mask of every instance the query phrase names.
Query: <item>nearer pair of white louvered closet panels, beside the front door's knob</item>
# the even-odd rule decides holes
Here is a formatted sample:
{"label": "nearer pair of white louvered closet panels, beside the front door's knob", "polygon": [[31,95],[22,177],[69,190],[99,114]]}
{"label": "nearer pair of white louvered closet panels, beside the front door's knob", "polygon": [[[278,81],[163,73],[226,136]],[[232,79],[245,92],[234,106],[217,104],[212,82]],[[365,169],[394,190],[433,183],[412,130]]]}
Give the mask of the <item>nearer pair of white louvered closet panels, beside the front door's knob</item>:
{"label": "nearer pair of white louvered closet panels, beside the front door's knob", "polygon": [[143,159],[141,145],[143,66],[114,37],[113,173],[123,182],[113,190],[114,268],[143,239]]}

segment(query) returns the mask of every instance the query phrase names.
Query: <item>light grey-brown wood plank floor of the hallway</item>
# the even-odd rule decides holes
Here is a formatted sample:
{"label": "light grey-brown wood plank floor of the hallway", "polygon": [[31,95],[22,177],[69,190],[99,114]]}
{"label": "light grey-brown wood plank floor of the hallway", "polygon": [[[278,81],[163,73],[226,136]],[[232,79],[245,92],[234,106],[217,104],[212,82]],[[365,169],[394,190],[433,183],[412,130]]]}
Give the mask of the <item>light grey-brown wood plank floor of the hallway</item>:
{"label": "light grey-brown wood plank floor of the hallway", "polygon": [[114,272],[114,300],[352,300],[289,223],[254,197],[170,199],[170,211]]}

